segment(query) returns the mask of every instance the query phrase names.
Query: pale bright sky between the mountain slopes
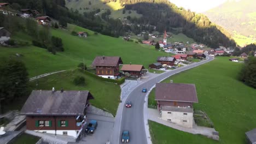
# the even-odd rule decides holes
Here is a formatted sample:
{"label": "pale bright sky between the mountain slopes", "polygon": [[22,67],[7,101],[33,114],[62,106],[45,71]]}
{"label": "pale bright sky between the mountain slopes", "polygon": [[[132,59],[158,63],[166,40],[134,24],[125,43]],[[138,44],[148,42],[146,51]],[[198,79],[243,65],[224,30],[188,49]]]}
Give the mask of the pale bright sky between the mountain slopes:
{"label": "pale bright sky between the mountain slopes", "polygon": [[176,4],[178,7],[190,9],[191,11],[195,11],[196,13],[202,13],[230,0],[169,0],[169,1],[171,3]]}

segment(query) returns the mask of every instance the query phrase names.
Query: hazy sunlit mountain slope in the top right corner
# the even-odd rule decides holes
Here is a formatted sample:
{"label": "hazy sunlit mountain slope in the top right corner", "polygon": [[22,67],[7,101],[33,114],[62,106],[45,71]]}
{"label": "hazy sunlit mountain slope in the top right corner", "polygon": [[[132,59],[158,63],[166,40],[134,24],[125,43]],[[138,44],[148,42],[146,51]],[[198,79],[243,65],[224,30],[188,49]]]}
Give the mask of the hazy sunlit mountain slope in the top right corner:
{"label": "hazy sunlit mountain slope in the top right corner", "polygon": [[256,0],[228,1],[205,12],[209,19],[228,29],[240,45],[256,41]]}

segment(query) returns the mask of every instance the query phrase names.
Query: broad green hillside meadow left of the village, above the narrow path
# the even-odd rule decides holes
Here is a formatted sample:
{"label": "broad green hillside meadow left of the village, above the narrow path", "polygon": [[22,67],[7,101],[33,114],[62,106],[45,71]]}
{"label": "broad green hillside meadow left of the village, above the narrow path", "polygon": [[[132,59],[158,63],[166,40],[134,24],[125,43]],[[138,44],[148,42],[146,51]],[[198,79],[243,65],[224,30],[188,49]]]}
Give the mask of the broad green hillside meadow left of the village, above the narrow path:
{"label": "broad green hillside meadow left of the village, above the narrow path", "polygon": [[[48,73],[51,71],[74,69],[85,59],[86,65],[91,65],[95,56],[121,56],[124,63],[143,64],[146,68],[150,63],[156,61],[158,56],[167,56],[165,52],[159,52],[148,45],[136,44],[124,41],[121,38],[112,38],[106,35],[97,34],[74,25],[68,29],[74,31],[86,31],[88,38],[80,38],[71,35],[71,31],[51,29],[52,35],[60,37],[64,46],[64,52],[57,52],[53,55],[35,46],[18,48],[0,47],[0,58],[12,57],[25,62],[30,77]],[[15,35],[16,39],[31,39],[24,33]],[[16,53],[22,56],[17,57]]]}

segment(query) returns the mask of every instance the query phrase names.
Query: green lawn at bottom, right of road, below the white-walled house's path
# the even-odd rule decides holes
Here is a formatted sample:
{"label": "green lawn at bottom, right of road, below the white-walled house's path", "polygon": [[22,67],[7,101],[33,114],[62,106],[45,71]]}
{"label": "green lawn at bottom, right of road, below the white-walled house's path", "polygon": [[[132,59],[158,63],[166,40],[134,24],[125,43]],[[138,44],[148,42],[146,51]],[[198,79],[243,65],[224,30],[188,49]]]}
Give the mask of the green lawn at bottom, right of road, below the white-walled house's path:
{"label": "green lawn at bottom, right of road, below the white-walled house's path", "polygon": [[185,133],[184,131],[179,131],[172,129],[165,125],[148,121],[149,131],[152,143],[154,144],[169,144],[169,143],[218,143],[212,139],[208,139],[202,135],[193,135],[190,133]]}

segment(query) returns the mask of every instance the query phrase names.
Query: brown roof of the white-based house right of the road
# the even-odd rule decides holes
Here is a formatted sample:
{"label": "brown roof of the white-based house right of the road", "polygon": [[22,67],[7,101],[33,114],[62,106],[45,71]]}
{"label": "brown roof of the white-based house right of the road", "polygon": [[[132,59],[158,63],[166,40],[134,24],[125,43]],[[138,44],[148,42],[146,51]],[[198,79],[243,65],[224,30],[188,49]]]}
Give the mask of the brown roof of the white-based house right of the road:
{"label": "brown roof of the white-based house right of the road", "polygon": [[194,84],[156,83],[155,100],[198,103]]}

